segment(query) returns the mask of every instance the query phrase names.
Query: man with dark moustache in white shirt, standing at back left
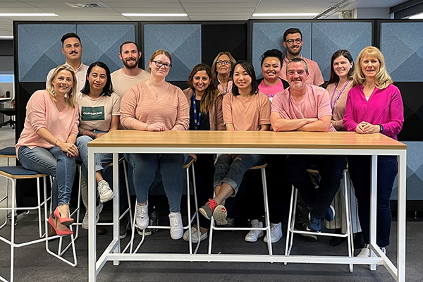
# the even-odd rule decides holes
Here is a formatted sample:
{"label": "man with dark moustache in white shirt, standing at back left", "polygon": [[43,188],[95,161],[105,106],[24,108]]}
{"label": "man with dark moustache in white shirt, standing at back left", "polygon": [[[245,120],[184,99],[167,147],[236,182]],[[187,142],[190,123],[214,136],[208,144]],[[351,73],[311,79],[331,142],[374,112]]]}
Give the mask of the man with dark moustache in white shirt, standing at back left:
{"label": "man with dark moustache in white shirt, standing at back left", "polygon": [[[83,65],[81,61],[82,56],[82,44],[80,37],[74,33],[66,33],[66,35],[63,35],[61,38],[62,42],[62,53],[66,57],[66,63],[64,63],[67,66],[71,66],[73,70],[75,71],[76,75],[76,82],[77,82],[77,90],[76,92],[80,92],[82,87],[85,85],[85,80],[87,79],[87,65]],[[51,78],[51,75],[53,75],[54,68],[49,71],[49,74],[47,75],[46,80],[46,88],[49,87],[49,80]]]}

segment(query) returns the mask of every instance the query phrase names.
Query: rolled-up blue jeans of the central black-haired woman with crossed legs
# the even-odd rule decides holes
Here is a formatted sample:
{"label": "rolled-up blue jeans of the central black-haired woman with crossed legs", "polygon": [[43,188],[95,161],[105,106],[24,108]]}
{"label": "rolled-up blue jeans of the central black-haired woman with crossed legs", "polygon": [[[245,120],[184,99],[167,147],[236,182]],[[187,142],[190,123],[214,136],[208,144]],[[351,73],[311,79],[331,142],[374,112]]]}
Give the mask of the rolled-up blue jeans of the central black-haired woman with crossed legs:
{"label": "rolled-up blue jeans of the central black-haired woman with crossed legs", "polygon": [[232,197],[235,197],[245,171],[259,164],[263,159],[262,154],[238,154],[233,159],[231,154],[221,154],[214,165],[214,188],[228,183],[234,190]]}

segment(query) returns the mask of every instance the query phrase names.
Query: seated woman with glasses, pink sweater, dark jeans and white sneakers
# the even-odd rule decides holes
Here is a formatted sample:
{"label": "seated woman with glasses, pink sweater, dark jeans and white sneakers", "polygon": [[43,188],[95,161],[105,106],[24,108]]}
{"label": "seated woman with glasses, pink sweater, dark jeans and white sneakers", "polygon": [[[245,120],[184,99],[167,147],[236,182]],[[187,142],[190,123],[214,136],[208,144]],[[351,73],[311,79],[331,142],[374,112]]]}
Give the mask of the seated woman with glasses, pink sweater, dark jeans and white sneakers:
{"label": "seated woman with glasses, pink sweater, dark jeans and white sneakers", "polygon": [[[149,60],[151,76],[130,87],[121,101],[121,123],[124,128],[144,131],[188,130],[189,105],[182,90],[165,81],[172,66],[171,54],[157,50]],[[133,167],[133,183],[137,195],[135,221],[145,230],[149,224],[148,192],[156,172],[161,174],[168,197],[171,238],[183,236],[180,199],[183,190],[184,154],[126,154]]]}

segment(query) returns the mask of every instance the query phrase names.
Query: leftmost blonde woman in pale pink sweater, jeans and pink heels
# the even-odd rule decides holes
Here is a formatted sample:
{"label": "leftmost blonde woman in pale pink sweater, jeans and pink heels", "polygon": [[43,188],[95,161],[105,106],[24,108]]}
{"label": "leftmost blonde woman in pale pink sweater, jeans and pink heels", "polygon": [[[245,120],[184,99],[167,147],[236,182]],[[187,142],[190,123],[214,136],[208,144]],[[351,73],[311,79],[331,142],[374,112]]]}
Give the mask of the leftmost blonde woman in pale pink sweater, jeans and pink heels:
{"label": "leftmost blonde woman in pale pink sweater, jeans and pink heels", "polygon": [[16,154],[23,167],[53,176],[49,235],[69,235],[69,201],[75,178],[75,145],[79,111],[75,102],[76,76],[70,66],[58,66],[47,90],[32,94]]}

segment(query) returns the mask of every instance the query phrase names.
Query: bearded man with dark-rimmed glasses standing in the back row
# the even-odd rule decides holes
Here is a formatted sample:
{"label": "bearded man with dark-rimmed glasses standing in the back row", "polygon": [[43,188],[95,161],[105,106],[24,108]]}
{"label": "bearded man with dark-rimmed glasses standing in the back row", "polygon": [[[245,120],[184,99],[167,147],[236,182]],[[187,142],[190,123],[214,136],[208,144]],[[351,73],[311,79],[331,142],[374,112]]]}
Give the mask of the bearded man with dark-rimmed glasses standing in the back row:
{"label": "bearded man with dark-rimmed glasses standing in the back row", "polygon": [[324,79],[321,75],[320,68],[315,61],[301,56],[302,44],[304,44],[304,41],[302,40],[301,30],[298,28],[288,28],[288,30],[283,33],[283,47],[286,48],[287,53],[285,58],[283,58],[283,65],[279,77],[283,80],[287,80],[286,65],[288,61],[294,58],[301,58],[304,59],[309,68],[309,75],[306,83],[309,85],[321,86],[324,84]]}

